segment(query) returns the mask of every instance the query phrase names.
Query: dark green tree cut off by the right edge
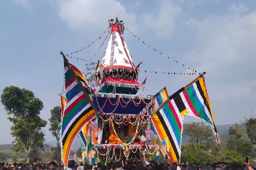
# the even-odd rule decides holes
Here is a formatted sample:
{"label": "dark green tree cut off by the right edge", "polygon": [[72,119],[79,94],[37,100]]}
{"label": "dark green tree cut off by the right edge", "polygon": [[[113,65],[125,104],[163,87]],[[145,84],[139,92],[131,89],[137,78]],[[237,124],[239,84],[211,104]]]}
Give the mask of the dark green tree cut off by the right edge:
{"label": "dark green tree cut off by the right edge", "polygon": [[244,124],[246,126],[248,138],[253,147],[256,148],[256,118],[251,117],[250,119],[245,119]]}

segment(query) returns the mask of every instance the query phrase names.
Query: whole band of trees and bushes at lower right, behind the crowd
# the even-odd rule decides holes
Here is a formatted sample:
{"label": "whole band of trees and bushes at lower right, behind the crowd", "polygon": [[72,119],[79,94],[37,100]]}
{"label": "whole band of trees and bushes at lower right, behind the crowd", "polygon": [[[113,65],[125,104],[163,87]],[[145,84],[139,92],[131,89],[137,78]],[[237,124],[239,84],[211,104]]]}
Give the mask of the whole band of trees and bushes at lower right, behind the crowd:
{"label": "whole band of trees and bushes at lower right, behind the crowd", "polygon": [[212,128],[204,122],[189,122],[183,127],[183,134],[188,135],[189,144],[181,147],[181,162],[206,164],[214,162],[244,163],[245,157],[250,160],[256,157],[256,118],[245,118],[245,128],[234,124],[229,128],[229,138],[220,136],[220,147],[217,146]]}

